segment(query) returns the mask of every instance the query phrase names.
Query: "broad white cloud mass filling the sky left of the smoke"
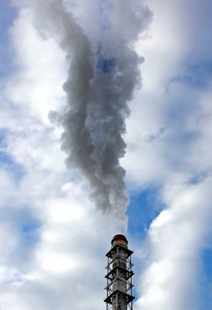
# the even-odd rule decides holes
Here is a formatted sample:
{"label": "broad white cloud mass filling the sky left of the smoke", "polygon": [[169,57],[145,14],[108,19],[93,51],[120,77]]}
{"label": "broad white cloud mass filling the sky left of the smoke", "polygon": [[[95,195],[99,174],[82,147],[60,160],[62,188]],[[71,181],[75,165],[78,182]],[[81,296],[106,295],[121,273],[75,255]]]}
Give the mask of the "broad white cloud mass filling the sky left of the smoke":
{"label": "broad white cloud mass filling the sky left of the smoke", "polygon": [[1,152],[20,173],[1,162],[0,308],[93,309],[93,299],[99,309],[111,236],[87,185],[66,170],[61,129],[47,118],[64,104],[65,56],[30,23],[30,12],[20,11],[11,29],[18,69],[1,93]]}

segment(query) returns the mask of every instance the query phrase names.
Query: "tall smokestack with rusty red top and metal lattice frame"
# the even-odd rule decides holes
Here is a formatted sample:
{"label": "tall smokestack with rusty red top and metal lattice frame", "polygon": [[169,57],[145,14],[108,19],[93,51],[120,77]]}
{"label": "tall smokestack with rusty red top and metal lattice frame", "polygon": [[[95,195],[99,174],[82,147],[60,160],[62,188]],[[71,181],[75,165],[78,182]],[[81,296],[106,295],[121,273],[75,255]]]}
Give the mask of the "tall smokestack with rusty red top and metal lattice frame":
{"label": "tall smokestack with rusty red top and metal lattice frame", "polygon": [[132,251],[127,247],[127,238],[124,235],[116,235],[111,241],[111,250],[106,254],[108,264],[105,267],[107,274],[107,310],[132,310],[132,275],[131,262]]}

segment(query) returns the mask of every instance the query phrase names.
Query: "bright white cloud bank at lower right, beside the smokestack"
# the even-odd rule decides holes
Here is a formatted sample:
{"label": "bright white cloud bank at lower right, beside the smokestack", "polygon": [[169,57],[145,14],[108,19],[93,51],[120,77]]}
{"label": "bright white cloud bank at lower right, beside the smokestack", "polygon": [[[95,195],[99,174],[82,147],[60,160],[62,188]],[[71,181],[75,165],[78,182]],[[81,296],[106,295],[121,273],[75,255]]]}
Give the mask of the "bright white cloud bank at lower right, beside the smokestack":
{"label": "bright white cloud bank at lower right, beside the smokestack", "polygon": [[211,177],[190,186],[182,180],[167,185],[168,208],[148,232],[150,258],[135,309],[199,309],[201,252],[212,233],[211,186]]}

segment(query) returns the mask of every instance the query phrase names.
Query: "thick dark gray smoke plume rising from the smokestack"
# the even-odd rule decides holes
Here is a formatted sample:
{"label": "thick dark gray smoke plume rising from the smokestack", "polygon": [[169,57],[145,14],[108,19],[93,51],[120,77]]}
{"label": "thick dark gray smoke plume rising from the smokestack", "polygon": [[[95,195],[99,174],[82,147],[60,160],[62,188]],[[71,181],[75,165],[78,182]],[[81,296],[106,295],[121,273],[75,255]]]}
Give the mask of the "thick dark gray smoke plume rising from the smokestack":
{"label": "thick dark gray smoke plume rising from the smokestack", "polygon": [[[79,6],[84,2],[87,5],[81,0]],[[68,155],[66,165],[85,176],[96,209],[126,227],[129,200],[120,158],[127,147],[127,103],[140,86],[143,61],[133,44],[152,13],[140,0],[89,0],[95,13],[79,7],[78,18],[74,2],[66,1],[66,7],[63,0],[30,3],[42,37],[53,36],[66,52],[67,105],[49,113],[52,122],[57,120],[64,128],[61,149]]]}

